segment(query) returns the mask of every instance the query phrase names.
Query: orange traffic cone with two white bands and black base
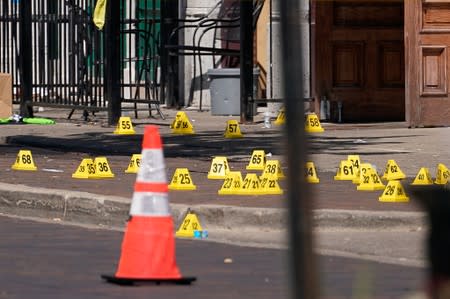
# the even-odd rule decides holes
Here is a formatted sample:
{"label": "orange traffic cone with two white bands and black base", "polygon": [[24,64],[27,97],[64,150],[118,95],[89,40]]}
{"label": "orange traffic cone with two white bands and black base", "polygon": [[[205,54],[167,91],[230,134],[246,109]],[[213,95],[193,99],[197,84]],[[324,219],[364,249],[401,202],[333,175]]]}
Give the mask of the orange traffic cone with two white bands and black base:
{"label": "orange traffic cone with two white bands and black base", "polygon": [[182,277],[175,260],[175,236],[168,202],[166,167],[157,126],[147,126],[122,254],[108,282],[132,285],[138,282],[190,284],[195,277]]}

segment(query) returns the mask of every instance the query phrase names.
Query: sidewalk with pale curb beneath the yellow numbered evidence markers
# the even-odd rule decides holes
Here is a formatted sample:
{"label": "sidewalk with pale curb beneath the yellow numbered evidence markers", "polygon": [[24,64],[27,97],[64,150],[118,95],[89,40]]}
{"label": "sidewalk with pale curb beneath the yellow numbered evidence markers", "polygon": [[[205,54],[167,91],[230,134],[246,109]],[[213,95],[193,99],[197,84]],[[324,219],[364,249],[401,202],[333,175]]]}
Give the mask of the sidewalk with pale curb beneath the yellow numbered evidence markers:
{"label": "sidewalk with pale curb beneath the yellow numbered evidence markers", "polygon": [[[55,125],[3,125],[0,146],[0,211],[26,216],[45,216],[67,221],[87,222],[103,226],[123,226],[126,221],[134,176],[118,174],[117,180],[75,183],[70,178],[84,155],[111,157],[113,165],[126,165],[134,153],[140,153],[142,132],[146,124],[157,124],[164,142],[168,178],[178,167],[192,171],[198,190],[191,193],[171,192],[174,218],[180,222],[187,209],[199,214],[202,225],[210,230],[282,231],[286,225],[283,196],[217,195],[221,182],[206,179],[214,156],[226,156],[234,170],[246,172],[254,149],[263,149],[271,158],[282,161],[283,131],[279,126],[264,128],[263,114],[253,124],[241,124],[243,139],[225,139],[226,121],[238,117],[212,116],[209,112],[186,110],[195,135],[171,134],[170,124],[176,110],[163,109],[166,119],[158,116],[132,121],[135,135],[112,134],[106,115],[97,113],[84,122],[75,113],[72,120],[61,110],[46,110],[36,117],[49,117]],[[67,111],[68,112],[68,111]],[[131,115],[130,115],[131,116]],[[398,228],[422,227],[425,214],[412,197],[409,203],[380,203],[380,192],[356,191],[350,182],[334,181],[339,162],[349,154],[358,154],[364,162],[375,165],[381,172],[388,159],[399,164],[409,183],[421,167],[428,167],[433,177],[438,163],[450,165],[447,149],[449,128],[408,129],[404,123],[326,124],[325,132],[310,137],[310,160],[318,170],[320,184],[314,191],[314,220],[321,228]],[[41,149],[33,158],[39,161],[39,175],[9,170],[20,148]],[[77,153],[77,154],[74,154]],[[46,157],[39,158],[39,157]],[[50,164],[43,165],[45,161]],[[56,168],[62,173],[41,169]],[[117,168],[117,167],[116,167]],[[299,173],[301,175],[302,173]],[[85,189],[83,189],[86,187]],[[283,186],[284,187],[284,186]]]}

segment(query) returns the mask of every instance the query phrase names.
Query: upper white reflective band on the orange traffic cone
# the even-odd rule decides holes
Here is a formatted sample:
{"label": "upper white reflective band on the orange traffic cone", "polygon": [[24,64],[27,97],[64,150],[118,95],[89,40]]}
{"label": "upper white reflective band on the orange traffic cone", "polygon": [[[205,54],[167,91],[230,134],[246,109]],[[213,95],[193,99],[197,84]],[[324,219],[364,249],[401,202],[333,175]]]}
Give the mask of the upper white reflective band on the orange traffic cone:
{"label": "upper white reflective band on the orange traffic cone", "polygon": [[142,159],[136,181],[167,183],[166,166],[164,164],[164,156],[162,150],[142,150]]}

